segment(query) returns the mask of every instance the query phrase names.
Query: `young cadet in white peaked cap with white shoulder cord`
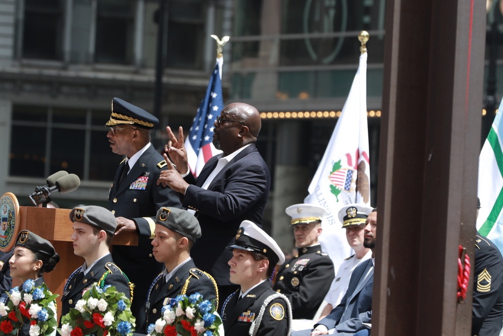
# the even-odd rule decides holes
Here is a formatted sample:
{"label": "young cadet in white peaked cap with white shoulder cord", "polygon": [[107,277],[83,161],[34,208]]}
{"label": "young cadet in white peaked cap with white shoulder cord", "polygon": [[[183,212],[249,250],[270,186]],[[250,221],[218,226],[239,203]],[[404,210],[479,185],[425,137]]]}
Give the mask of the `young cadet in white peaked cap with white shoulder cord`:
{"label": "young cadet in white peaked cap with white shoulder cord", "polygon": [[271,289],[268,278],[276,264],[285,262],[278,244],[261,228],[243,221],[233,241],[230,282],[240,289],[225,300],[222,321],[225,333],[244,335],[289,335],[292,310],[288,298]]}

